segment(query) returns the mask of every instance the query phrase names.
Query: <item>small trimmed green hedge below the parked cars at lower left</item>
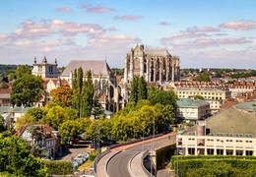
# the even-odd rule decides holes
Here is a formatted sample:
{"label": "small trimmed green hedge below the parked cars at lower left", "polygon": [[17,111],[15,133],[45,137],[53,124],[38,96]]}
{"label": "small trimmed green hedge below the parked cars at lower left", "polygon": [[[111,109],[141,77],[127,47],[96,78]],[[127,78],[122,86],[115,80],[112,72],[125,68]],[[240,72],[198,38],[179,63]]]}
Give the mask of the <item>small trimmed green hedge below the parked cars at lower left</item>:
{"label": "small trimmed green hedge below the parked cars at lower left", "polygon": [[73,164],[71,161],[43,161],[47,167],[47,173],[53,175],[73,174]]}

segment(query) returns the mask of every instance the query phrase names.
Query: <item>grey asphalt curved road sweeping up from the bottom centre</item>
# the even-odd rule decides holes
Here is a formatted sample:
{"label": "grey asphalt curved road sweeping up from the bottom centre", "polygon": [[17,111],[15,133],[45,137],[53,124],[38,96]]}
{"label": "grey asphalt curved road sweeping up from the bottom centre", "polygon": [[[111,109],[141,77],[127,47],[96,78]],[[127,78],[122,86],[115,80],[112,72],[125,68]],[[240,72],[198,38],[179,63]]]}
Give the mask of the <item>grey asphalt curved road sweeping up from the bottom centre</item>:
{"label": "grey asphalt curved road sweeping up from the bottom centre", "polygon": [[156,149],[163,146],[171,145],[174,143],[174,136],[175,135],[171,135],[170,140],[168,138],[162,138],[160,140],[155,140],[153,143],[150,142],[133,148],[128,148],[116,154],[109,160],[106,166],[109,177],[130,177],[128,171],[128,162],[134,154],[147,149],[150,150],[152,148]]}

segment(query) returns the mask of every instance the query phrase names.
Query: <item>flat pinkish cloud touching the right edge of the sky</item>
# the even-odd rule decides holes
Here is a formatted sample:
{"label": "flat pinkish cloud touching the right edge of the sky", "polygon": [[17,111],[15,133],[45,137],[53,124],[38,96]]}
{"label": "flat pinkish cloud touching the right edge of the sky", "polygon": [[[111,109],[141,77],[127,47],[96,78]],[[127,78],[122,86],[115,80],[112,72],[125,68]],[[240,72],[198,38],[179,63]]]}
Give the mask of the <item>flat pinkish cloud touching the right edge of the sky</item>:
{"label": "flat pinkish cloud touching the right edge of the sky", "polygon": [[250,30],[256,29],[256,22],[254,21],[241,21],[241,22],[227,22],[220,25],[224,29],[235,29],[235,30]]}

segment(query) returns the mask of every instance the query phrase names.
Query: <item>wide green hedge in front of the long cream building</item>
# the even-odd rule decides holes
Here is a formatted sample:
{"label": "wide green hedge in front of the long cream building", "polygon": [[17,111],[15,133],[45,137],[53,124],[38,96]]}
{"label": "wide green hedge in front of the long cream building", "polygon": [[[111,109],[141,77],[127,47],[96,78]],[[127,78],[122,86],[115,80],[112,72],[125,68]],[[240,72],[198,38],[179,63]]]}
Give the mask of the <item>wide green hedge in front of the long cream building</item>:
{"label": "wide green hedge in front of the long cream building", "polygon": [[171,157],[172,169],[179,176],[253,176],[255,156],[197,155]]}

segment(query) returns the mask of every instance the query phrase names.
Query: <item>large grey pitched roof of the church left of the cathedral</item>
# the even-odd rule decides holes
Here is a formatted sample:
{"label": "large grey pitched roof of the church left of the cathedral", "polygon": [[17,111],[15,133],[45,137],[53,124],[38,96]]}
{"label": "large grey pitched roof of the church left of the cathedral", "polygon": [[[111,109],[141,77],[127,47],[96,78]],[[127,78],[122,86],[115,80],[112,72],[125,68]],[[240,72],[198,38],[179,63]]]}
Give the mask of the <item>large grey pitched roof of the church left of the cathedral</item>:
{"label": "large grey pitched roof of the church left of the cathedral", "polygon": [[110,75],[111,70],[104,60],[71,60],[68,66],[65,68],[62,77],[69,77],[71,72],[74,72],[75,69],[82,67],[83,71],[92,71],[94,75]]}

